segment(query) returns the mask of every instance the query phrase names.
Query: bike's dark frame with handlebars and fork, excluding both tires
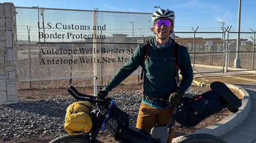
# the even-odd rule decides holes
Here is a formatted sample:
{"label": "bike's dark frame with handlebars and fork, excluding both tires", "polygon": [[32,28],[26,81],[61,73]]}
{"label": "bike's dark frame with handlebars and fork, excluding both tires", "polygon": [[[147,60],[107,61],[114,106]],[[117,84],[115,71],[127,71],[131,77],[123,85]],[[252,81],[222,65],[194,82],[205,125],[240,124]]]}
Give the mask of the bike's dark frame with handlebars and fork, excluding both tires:
{"label": "bike's dark frame with handlebars and fork, excluding both tires", "polygon": [[117,126],[121,126],[126,131],[131,132],[131,134],[138,134],[138,139],[144,138],[145,142],[166,142],[170,131],[173,130],[173,116],[176,114],[178,106],[175,107],[168,125],[155,126],[152,128],[151,133],[146,133],[145,131],[140,130],[130,124],[126,125],[125,123],[122,123],[122,121],[115,121],[113,118],[111,118],[110,111],[113,110],[112,106],[114,106],[112,99],[82,94],[79,93],[73,86],[68,89],[68,92],[77,100],[89,101],[93,105],[96,105],[96,109],[91,112],[93,127],[89,133],[87,133],[87,135],[90,136],[90,142],[94,142],[98,137],[100,130],[104,131],[104,128],[107,128],[118,142],[125,141],[122,132],[118,132],[115,129]]}

